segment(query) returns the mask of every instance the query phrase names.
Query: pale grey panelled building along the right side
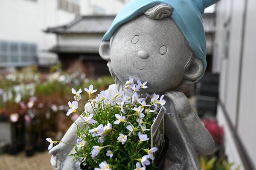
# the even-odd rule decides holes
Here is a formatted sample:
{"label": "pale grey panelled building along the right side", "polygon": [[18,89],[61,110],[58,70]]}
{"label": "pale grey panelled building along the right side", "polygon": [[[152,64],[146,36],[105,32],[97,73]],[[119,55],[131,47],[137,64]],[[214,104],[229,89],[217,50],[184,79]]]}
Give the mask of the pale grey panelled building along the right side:
{"label": "pale grey panelled building along the right side", "polygon": [[256,166],[255,8],[255,0],[221,0],[216,6],[212,70],[220,73],[218,121],[228,159],[241,170]]}

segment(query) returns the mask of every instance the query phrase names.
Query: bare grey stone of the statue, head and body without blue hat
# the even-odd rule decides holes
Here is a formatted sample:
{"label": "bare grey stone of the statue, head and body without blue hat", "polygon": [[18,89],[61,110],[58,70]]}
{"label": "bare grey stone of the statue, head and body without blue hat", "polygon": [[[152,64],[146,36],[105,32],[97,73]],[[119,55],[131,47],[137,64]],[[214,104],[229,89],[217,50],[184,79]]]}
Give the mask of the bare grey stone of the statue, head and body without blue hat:
{"label": "bare grey stone of the statue, head and body without blue hat", "polygon": [[[100,55],[109,61],[108,67],[116,82],[109,87],[108,92],[116,86],[122,88],[132,76],[135,80],[148,82],[145,92],[165,94],[165,107],[170,114],[165,116],[169,149],[164,170],[199,170],[197,153],[212,153],[214,142],[192,111],[183,91],[201,77],[203,63],[194,57],[180,29],[170,16],[166,16],[169,13],[162,12],[165,15],[160,19],[141,14],[116,30],[110,42],[102,42]],[[161,16],[161,13],[158,11],[157,15]],[[91,110],[89,105],[86,107]],[[77,123],[81,121],[77,120]],[[74,133],[76,125],[70,127],[62,140],[75,143]],[[64,144],[53,147],[49,151],[53,155],[52,166],[58,170],[66,167],[77,170],[77,162],[67,158],[67,153],[72,152],[72,149]]]}

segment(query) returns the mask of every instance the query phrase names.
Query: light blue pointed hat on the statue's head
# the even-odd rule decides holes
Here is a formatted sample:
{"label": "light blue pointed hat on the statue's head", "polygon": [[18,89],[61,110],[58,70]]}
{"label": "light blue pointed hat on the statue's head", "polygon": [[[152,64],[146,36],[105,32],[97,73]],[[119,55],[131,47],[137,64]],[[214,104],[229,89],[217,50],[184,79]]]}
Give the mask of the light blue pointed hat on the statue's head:
{"label": "light blue pointed hat on the statue's head", "polygon": [[156,4],[166,4],[173,8],[172,19],[180,28],[190,48],[196,57],[204,62],[206,70],[206,40],[202,21],[204,9],[218,0],[131,0],[119,14],[116,15],[111,27],[103,37],[103,41],[110,40],[116,28],[123,23],[143,13]]}

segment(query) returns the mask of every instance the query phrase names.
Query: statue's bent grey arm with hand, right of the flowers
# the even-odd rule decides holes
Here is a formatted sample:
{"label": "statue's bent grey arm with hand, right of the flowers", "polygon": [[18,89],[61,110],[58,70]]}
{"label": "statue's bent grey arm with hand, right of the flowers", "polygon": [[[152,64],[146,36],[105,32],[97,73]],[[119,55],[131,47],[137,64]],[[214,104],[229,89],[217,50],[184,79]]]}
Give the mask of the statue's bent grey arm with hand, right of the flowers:
{"label": "statue's bent grey arm with hand, right of the flowers", "polygon": [[192,111],[189,99],[185,94],[177,91],[167,92],[166,96],[169,97],[172,107],[179,115],[184,129],[198,153],[203,155],[211,154],[214,150],[212,136]]}

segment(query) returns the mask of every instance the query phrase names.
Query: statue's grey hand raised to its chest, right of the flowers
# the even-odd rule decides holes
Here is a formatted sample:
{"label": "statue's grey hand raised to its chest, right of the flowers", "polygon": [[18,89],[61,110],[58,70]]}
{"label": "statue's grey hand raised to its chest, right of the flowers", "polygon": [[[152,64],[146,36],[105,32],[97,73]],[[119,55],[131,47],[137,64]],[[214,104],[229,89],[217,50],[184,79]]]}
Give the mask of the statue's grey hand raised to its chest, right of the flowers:
{"label": "statue's grey hand raised to its chest, right of the flowers", "polygon": [[180,118],[184,118],[191,112],[189,99],[180,91],[166,92],[166,96],[171,99],[171,103]]}

